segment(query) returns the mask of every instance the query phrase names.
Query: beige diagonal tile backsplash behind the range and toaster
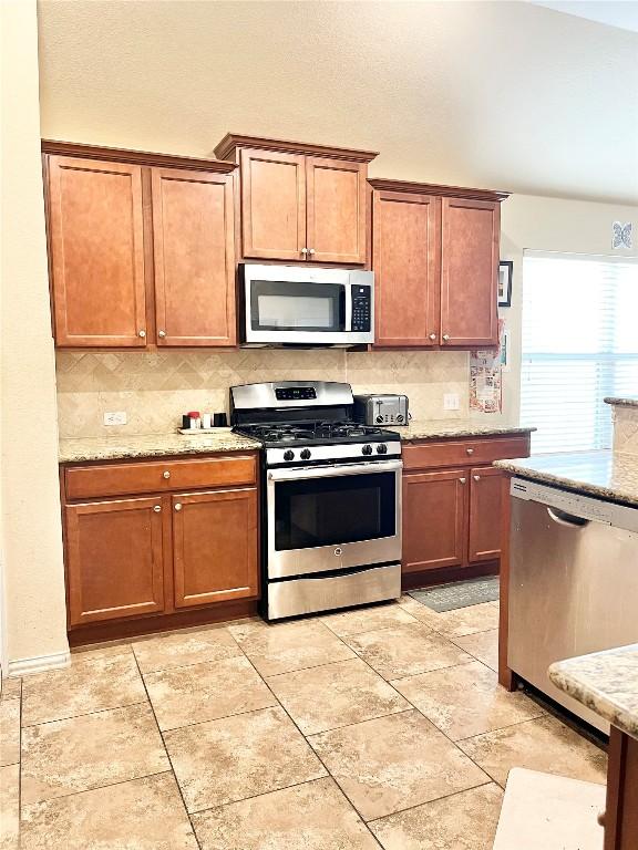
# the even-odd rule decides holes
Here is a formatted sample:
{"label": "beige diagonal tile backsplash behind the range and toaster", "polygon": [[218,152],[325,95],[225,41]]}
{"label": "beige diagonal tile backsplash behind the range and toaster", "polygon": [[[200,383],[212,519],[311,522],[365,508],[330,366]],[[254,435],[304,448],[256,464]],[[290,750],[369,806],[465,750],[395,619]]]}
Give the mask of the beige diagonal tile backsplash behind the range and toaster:
{"label": "beige diagonal tile backsplash behind the range and toaster", "polygon": [[[361,393],[405,393],[414,418],[467,418],[469,354],[455,351],[69,352],[56,353],[60,437],[165,434],[186,411],[228,411],[228,387],[259,381],[347,381]],[[460,408],[443,411],[444,393]],[[126,425],[104,413],[125,411]]]}

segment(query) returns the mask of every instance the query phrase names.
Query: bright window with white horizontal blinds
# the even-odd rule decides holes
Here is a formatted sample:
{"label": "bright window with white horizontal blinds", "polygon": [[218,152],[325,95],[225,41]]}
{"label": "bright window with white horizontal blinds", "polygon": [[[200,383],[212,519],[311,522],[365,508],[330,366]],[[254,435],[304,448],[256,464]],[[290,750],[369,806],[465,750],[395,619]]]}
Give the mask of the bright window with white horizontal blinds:
{"label": "bright window with white horizontal blinds", "polygon": [[525,251],[521,422],[533,454],[611,447],[605,396],[638,394],[638,260]]}

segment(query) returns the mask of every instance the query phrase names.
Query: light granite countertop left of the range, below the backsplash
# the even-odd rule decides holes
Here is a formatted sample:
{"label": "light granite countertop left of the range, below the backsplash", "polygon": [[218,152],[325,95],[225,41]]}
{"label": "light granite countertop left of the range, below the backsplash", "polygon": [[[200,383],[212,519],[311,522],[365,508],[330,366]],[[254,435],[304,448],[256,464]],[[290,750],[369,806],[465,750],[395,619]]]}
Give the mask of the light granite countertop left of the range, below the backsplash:
{"label": "light granite countertop left of the range, below the backsplash", "polygon": [[256,439],[233,434],[230,428],[218,428],[191,436],[188,434],[148,434],[145,436],[84,437],[61,439],[59,462],[116,460],[131,457],[165,457],[168,455],[202,455],[223,452],[258,449]]}

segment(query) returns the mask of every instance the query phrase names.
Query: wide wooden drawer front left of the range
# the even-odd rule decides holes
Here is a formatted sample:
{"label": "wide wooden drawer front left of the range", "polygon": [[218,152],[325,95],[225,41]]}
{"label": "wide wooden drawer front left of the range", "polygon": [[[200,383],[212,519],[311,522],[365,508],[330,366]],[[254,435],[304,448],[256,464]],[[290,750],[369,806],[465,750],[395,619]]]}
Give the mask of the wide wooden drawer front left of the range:
{"label": "wide wooden drawer front left of the range", "polygon": [[163,493],[198,487],[255,484],[255,455],[209,457],[198,460],[147,460],[138,464],[83,466],[65,470],[68,499]]}

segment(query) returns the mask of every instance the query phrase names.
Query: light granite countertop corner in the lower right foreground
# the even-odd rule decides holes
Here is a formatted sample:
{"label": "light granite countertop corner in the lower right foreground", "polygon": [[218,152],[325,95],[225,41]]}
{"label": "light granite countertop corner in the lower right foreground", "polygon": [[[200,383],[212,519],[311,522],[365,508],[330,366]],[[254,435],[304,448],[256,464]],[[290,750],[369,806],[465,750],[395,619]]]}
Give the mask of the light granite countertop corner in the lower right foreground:
{"label": "light granite countertop corner in the lower right foreground", "polygon": [[638,738],[638,643],[593,652],[549,667],[556,687]]}

